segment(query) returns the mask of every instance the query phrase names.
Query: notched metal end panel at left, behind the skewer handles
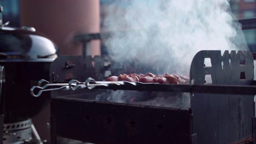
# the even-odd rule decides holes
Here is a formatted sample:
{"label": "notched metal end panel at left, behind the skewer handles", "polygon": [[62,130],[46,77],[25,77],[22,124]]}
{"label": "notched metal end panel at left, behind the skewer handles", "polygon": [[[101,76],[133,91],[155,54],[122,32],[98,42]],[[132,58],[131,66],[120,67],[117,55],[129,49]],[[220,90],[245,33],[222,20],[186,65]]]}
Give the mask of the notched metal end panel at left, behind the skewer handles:
{"label": "notched metal end panel at left, behind the skewer handles", "polygon": [[103,80],[106,67],[105,59],[100,56],[59,56],[50,68],[50,83],[69,82],[76,79],[84,82],[86,78]]}

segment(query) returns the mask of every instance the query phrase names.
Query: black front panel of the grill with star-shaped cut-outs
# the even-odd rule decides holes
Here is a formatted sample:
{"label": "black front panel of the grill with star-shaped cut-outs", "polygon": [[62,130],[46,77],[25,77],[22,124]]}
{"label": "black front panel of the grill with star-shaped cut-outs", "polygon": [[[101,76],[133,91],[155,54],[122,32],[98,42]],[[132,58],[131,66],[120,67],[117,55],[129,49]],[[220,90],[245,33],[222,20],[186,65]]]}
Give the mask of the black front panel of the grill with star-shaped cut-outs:
{"label": "black front panel of the grill with star-shaped cut-outs", "polygon": [[52,98],[51,134],[96,144],[196,144],[190,110]]}

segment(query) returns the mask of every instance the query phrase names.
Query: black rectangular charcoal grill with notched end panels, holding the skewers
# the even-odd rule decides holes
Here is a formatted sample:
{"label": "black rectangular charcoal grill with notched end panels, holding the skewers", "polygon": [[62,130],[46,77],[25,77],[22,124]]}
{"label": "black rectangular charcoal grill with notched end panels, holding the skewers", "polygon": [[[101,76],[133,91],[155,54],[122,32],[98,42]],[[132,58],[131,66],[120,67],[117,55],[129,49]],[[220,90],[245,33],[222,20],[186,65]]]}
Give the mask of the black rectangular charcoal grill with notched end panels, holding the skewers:
{"label": "black rectangular charcoal grill with notched end panels, holding the skewers", "polygon": [[[250,29],[254,28],[251,21],[240,22]],[[120,70],[111,69],[108,57],[86,54],[86,43],[100,39],[100,34],[81,37],[83,55],[59,56],[50,68],[50,85],[42,80],[31,89],[32,95],[36,88],[52,90],[52,144],[57,143],[57,137],[96,144],[256,144],[256,82],[251,52],[198,52],[187,85],[105,83],[102,80],[108,71]],[[211,66],[204,66],[205,58],[211,59]],[[210,75],[211,83],[205,82],[206,75]],[[46,88],[51,86],[54,88]],[[187,93],[190,108],[96,101],[105,90]]]}

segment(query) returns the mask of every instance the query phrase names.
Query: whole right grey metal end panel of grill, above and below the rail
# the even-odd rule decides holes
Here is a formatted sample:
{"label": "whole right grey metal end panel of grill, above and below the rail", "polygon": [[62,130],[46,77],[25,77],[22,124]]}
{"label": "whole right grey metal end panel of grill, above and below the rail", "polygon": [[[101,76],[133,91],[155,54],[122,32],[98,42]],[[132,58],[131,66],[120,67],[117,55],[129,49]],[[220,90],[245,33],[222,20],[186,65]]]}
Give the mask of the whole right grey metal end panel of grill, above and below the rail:
{"label": "whole right grey metal end panel of grill, above and below the rail", "polygon": [[[210,58],[211,66],[204,66]],[[200,51],[192,61],[190,83],[249,85],[254,79],[254,63],[249,51]],[[206,80],[207,82],[207,80]],[[209,83],[207,83],[209,84]],[[194,133],[198,144],[232,144],[252,140],[254,95],[191,94]]]}

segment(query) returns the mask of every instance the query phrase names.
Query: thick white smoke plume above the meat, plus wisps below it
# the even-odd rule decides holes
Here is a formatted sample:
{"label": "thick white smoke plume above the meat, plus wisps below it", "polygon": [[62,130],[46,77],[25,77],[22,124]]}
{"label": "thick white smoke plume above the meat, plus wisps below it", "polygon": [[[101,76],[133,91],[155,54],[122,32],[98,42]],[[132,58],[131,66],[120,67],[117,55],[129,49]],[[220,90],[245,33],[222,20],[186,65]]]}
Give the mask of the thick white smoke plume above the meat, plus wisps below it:
{"label": "thick white smoke plume above the meat, plus wisps below it", "polygon": [[[103,36],[104,45],[117,62],[134,63],[131,73],[189,75],[192,59],[200,50],[223,54],[224,50],[248,49],[228,0],[118,0],[106,11],[102,31],[114,33]],[[131,97],[120,98],[122,93],[108,98],[129,101]],[[187,95],[174,95],[138,103],[188,107],[189,101]]]}

